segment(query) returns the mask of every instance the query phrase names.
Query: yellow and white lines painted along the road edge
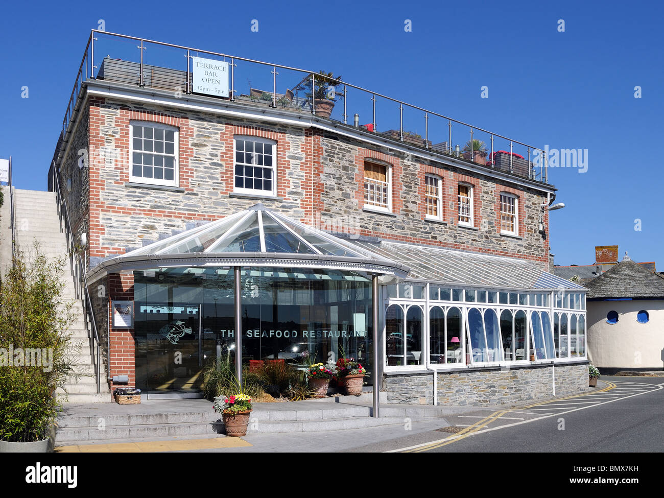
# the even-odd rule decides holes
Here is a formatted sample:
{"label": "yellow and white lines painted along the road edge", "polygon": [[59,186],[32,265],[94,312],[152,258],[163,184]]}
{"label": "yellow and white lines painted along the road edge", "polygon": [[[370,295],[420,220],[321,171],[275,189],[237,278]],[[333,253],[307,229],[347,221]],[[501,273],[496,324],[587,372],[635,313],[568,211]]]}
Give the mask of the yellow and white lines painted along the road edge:
{"label": "yellow and white lines painted along the road edge", "polygon": [[[605,381],[605,382],[607,382],[607,381]],[[616,381],[616,382],[620,382],[620,381]],[[606,388],[603,388],[602,390],[597,391],[597,393],[608,392],[609,390],[612,390],[612,389],[616,388],[616,386],[618,385],[618,384],[614,384],[614,382],[607,382],[607,383],[609,385]],[[642,384],[653,386],[653,384],[648,384],[647,382],[643,382]],[[529,422],[535,422],[536,420],[544,420],[544,418],[548,418],[549,416],[554,416],[554,415],[559,416],[559,415],[566,414],[566,413],[578,412],[580,410],[586,410],[586,408],[594,408],[596,406],[599,406],[600,404],[614,403],[618,400],[624,400],[624,399],[627,399],[627,398],[631,398],[633,396],[641,396],[641,394],[646,394],[647,392],[654,392],[656,390],[661,390],[662,388],[664,388],[664,384],[661,385],[661,386],[659,384],[655,384],[655,386],[657,386],[657,389],[647,390],[647,391],[639,392],[637,394],[630,394],[629,396],[621,396],[620,398],[611,399],[611,400],[607,400],[607,401],[603,401],[603,402],[598,402],[596,404],[589,404],[588,406],[579,406],[578,408],[572,408],[570,410],[567,410],[566,412],[557,412],[555,414],[537,414],[537,415],[539,415],[538,417],[531,418],[529,420],[522,420],[521,422],[513,422],[512,424],[503,424],[503,425],[499,425],[499,426],[496,426],[496,427],[488,427],[488,424],[490,424],[491,422],[493,422],[494,420],[499,418],[501,415],[503,415],[507,412],[513,412],[514,410],[503,410],[501,412],[494,412],[493,414],[489,415],[485,420],[481,420],[479,422],[476,422],[472,426],[469,426],[469,427],[463,429],[461,432],[459,432],[455,436],[450,436],[448,438],[445,438],[445,439],[442,439],[442,440],[437,440],[437,441],[432,441],[432,442],[429,442],[429,443],[416,444],[414,446],[408,446],[406,448],[399,448],[397,450],[390,450],[386,453],[396,453],[396,452],[404,452],[404,453],[415,453],[415,452],[417,452],[417,453],[420,453],[420,452],[425,452],[425,451],[428,451],[428,450],[435,450],[437,448],[442,448],[443,446],[447,446],[448,444],[452,444],[453,442],[456,442],[458,440],[467,438],[468,436],[474,436],[475,434],[483,434],[485,432],[491,432],[491,431],[494,431],[494,430],[504,429],[504,428],[508,428],[508,427],[514,427],[514,426],[518,426],[518,425],[521,425],[521,424],[527,424]],[[655,386],[653,386],[653,387],[655,387]],[[567,398],[561,398],[560,400],[556,400],[556,401],[561,401],[561,400],[565,400],[565,399],[580,398],[580,397],[582,397],[584,395],[588,395],[588,394],[592,394],[592,393],[575,394],[573,396],[568,396]],[[551,401],[553,401],[553,400],[543,401],[543,402],[540,402],[540,403],[525,406],[523,408],[528,409],[528,410],[542,410],[543,408],[532,408],[532,407],[533,406],[544,405],[544,404],[550,403]],[[489,419],[491,419],[491,420],[489,420]],[[483,422],[485,422],[485,424],[481,425]],[[486,427],[486,429],[481,430],[483,427]]]}

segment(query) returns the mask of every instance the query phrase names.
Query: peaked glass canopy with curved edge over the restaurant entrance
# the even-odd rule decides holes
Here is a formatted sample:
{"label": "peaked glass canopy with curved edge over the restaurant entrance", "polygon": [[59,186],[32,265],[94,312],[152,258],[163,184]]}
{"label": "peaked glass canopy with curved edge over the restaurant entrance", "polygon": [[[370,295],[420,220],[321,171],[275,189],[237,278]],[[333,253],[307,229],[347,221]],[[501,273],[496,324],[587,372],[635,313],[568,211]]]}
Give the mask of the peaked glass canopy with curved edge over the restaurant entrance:
{"label": "peaked glass canopy with curved edge over the restaurant entrance", "polygon": [[371,272],[400,280],[408,266],[307,226],[262,204],[102,262],[90,278],[181,266],[288,266]]}

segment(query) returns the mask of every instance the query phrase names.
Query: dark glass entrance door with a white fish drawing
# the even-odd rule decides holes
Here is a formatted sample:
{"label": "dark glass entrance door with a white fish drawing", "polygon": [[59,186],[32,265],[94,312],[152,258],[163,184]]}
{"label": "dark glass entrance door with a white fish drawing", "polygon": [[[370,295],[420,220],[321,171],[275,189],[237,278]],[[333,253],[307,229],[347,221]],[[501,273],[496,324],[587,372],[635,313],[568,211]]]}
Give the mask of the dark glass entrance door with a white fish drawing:
{"label": "dark glass entrance door with a white fish drawing", "polygon": [[136,382],[148,398],[199,397],[203,383],[201,306],[138,303]]}

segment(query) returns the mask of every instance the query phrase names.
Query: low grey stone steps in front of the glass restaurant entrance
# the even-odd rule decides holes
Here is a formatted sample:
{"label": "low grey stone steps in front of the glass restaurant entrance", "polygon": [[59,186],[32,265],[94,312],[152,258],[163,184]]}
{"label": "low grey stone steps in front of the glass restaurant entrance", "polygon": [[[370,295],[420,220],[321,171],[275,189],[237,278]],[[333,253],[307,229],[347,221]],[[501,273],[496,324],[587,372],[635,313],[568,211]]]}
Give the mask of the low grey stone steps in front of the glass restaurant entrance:
{"label": "low grey stone steps in front of the glass restaurant entrance", "polygon": [[[381,393],[384,394],[384,393]],[[371,406],[361,403],[371,396],[340,396],[304,402],[256,403],[249,419],[248,434],[349,430],[413,420],[440,420],[450,408],[436,406],[380,406],[380,418],[371,417]],[[110,396],[109,396],[110,397]],[[181,410],[178,408],[181,407]],[[69,413],[68,413],[69,412]],[[80,442],[163,436],[224,434],[221,415],[205,400],[146,400],[140,405],[112,403],[108,409],[89,410],[72,406],[58,417],[59,446]],[[104,430],[99,430],[100,422]]]}

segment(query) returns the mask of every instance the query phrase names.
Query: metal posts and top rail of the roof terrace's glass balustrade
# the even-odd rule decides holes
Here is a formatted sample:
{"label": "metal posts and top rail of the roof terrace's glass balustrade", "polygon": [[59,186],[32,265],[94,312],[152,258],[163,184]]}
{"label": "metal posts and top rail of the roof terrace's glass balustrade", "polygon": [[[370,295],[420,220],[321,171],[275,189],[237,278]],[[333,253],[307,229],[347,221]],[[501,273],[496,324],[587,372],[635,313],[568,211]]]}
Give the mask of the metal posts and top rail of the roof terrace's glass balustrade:
{"label": "metal posts and top rail of the roof terrace's glass balustrade", "polygon": [[[70,121],[72,120],[72,116],[74,115],[76,100],[78,100],[78,98],[80,98],[79,92],[77,90],[79,90],[80,87],[84,84],[84,80],[82,80],[83,76],[85,76],[86,80],[88,80],[88,78],[89,79],[95,79],[94,69],[95,69],[96,66],[94,66],[94,42],[98,40],[95,37],[96,34],[100,34],[100,35],[104,35],[104,36],[108,36],[108,37],[118,37],[120,39],[126,39],[126,40],[136,41],[136,42],[140,43],[137,46],[137,48],[140,49],[140,53],[141,53],[141,56],[140,56],[140,60],[141,60],[140,66],[141,67],[140,67],[140,70],[139,70],[139,84],[141,86],[143,85],[143,51],[146,48],[145,47],[146,43],[156,44],[156,45],[160,45],[160,46],[167,46],[167,47],[170,47],[170,48],[177,48],[179,50],[186,50],[187,51],[187,75],[189,75],[189,54],[191,54],[192,51],[200,53],[200,54],[209,54],[209,55],[218,56],[218,57],[230,58],[231,64],[232,64],[231,79],[232,79],[232,83],[233,83],[232,84],[232,95],[233,96],[234,96],[234,93],[235,93],[235,90],[234,90],[234,70],[233,69],[234,69],[234,65],[235,65],[234,63],[236,61],[241,60],[243,62],[250,62],[252,64],[260,64],[260,65],[263,65],[263,66],[270,67],[272,69],[272,73],[274,74],[274,76],[272,78],[273,79],[273,84],[274,84],[274,88],[273,88],[273,92],[272,92],[272,95],[273,95],[272,106],[273,107],[276,106],[275,101],[276,101],[276,74],[278,74],[277,69],[283,69],[283,70],[290,70],[290,71],[305,73],[306,76],[303,78],[303,80],[311,77],[312,80],[313,80],[312,84],[314,85],[314,87],[315,87],[315,76],[317,76],[317,74],[318,74],[315,71],[305,70],[305,69],[301,69],[301,68],[295,68],[295,67],[292,67],[292,66],[285,66],[283,64],[274,64],[273,62],[264,62],[262,60],[255,60],[255,59],[250,59],[250,58],[245,58],[245,57],[238,57],[238,56],[233,56],[233,55],[229,55],[229,54],[224,54],[222,52],[214,52],[212,50],[203,50],[201,48],[195,48],[195,47],[178,45],[178,44],[167,43],[167,42],[161,42],[161,41],[150,40],[150,39],[139,38],[139,37],[132,37],[132,36],[129,36],[129,35],[122,35],[120,33],[111,33],[111,32],[108,32],[108,31],[101,31],[101,30],[98,30],[98,29],[92,29],[92,30],[90,30],[90,36],[88,37],[88,42],[86,44],[86,49],[85,49],[84,55],[82,57],[80,66],[78,68],[78,73],[76,74],[76,81],[74,82],[74,89],[72,90],[72,94],[70,96],[69,102],[67,104],[67,109],[66,109],[66,112],[65,112],[65,115],[64,115],[64,120],[62,122],[62,132],[63,132],[62,133],[62,139],[66,138],[66,132],[68,131],[68,126],[70,124]],[[89,57],[88,57],[88,49],[90,49],[90,56]],[[89,71],[88,71],[88,62],[90,64]],[[80,82],[79,82],[79,79],[81,80]],[[346,91],[347,88],[355,88],[356,90],[360,90],[361,92],[371,94],[371,100],[373,102],[374,130],[376,129],[376,127],[375,127],[375,124],[376,124],[376,98],[382,98],[382,99],[388,100],[390,102],[394,102],[396,104],[399,104],[401,116],[403,116],[403,106],[406,106],[407,108],[410,108],[412,110],[418,110],[418,111],[424,112],[425,127],[426,127],[426,139],[425,139],[424,143],[425,143],[426,148],[429,148],[428,147],[429,119],[432,116],[435,116],[435,117],[438,117],[438,118],[442,118],[443,120],[446,120],[448,122],[448,127],[450,128],[450,143],[448,144],[449,153],[452,153],[452,124],[453,123],[470,128],[471,144],[472,144],[472,139],[473,139],[472,138],[473,137],[473,132],[481,131],[483,133],[487,133],[487,134],[491,135],[491,150],[492,151],[493,151],[493,141],[494,141],[494,139],[499,138],[499,139],[504,139],[504,140],[510,142],[510,150],[512,149],[513,144],[518,144],[518,145],[522,145],[523,147],[527,147],[529,149],[529,151],[528,151],[529,163],[530,163],[531,149],[532,149],[533,152],[540,151],[541,153],[544,153],[544,149],[541,149],[540,147],[535,147],[535,146],[529,145],[525,142],[515,140],[515,139],[511,139],[511,138],[509,138],[505,135],[501,135],[500,133],[493,133],[492,131],[489,131],[489,130],[484,129],[482,127],[471,125],[471,124],[468,124],[468,123],[463,122],[463,121],[455,120],[454,118],[450,118],[449,116],[445,116],[444,114],[439,114],[437,112],[430,111],[426,108],[416,106],[414,104],[408,104],[408,102],[404,102],[402,100],[398,100],[396,98],[386,96],[386,95],[381,94],[379,92],[374,92],[373,90],[369,90],[369,89],[363,88],[361,86],[353,85],[351,83],[341,82],[341,80],[337,80],[335,78],[331,78],[331,77],[327,77],[327,76],[325,77],[325,80],[335,82],[336,84],[343,84],[343,86],[344,86],[344,92],[343,92],[344,97],[347,95],[347,91]],[[300,82],[300,84],[301,84],[301,82]],[[189,77],[187,77],[187,93],[189,93]],[[311,113],[313,115],[316,114],[315,103],[313,103]],[[345,100],[345,98],[344,98],[344,116],[346,116],[346,100]],[[345,118],[344,118],[344,123],[345,122],[346,121],[345,121]],[[401,124],[400,124],[400,137],[402,137],[402,136],[403,136],[403,122],[401,122]],[[58,156],[58,148],[59,147],[56,147],[56,151],[55,151],[56,162],[57,162],[57,156]],[[472,155],[472,145],[471,145],[471,158],[472,157],[473,157],[473,155]],[[548,174],[547,174],[548,172],[544,171],[545,169],[546,169],[546,165],[540,164],[540,181],[543,181],[543,182],[548,181]],[[510,161],[510,170],[512,170],[511,161]],[[533,175],[529,174],[529,178],[531,178],[531,177],[533,177]]]}

